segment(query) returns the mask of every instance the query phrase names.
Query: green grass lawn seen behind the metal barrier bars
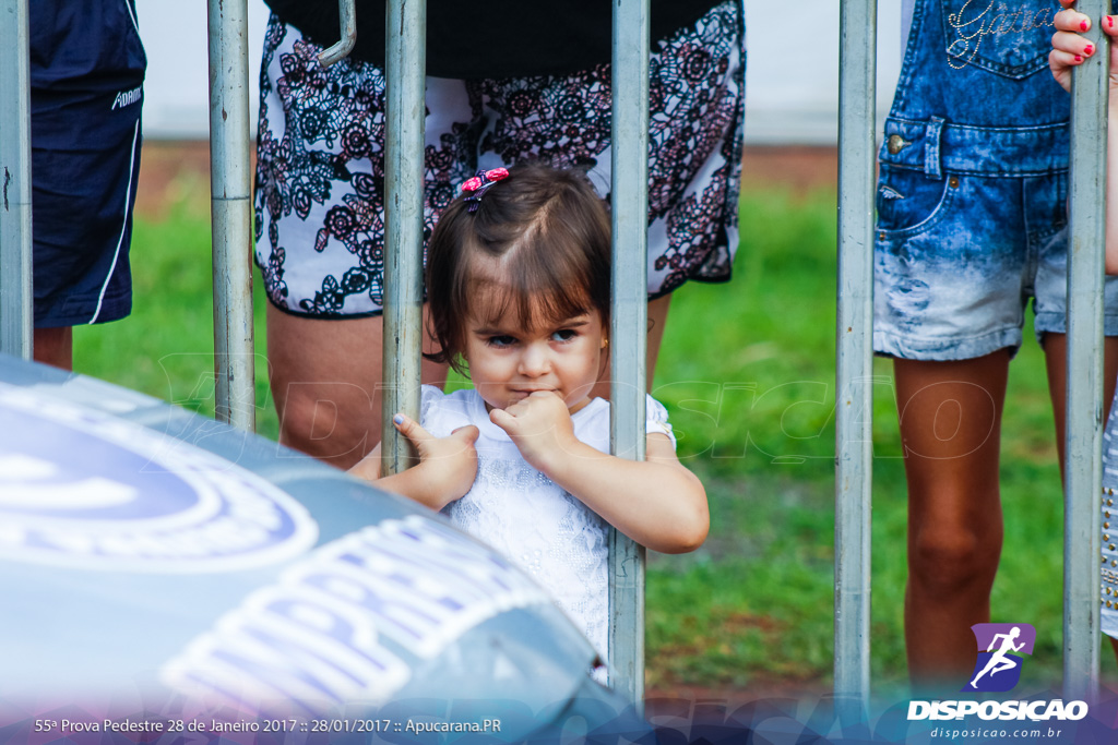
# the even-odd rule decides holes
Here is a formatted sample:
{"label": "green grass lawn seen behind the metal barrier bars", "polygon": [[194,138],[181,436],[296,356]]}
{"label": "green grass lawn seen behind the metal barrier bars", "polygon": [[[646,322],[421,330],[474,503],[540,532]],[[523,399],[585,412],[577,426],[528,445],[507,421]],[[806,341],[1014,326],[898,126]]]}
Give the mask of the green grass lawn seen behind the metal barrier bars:
{"label": "green grass lawn seen behind the metal barrier bars", "polygon": [[[178,184],[158,221],[138,219],[135,302],[121,323],[77,329],[82,372],[211,414],[212,298],[205,184]],[[742,195],[735,279],[676,293],[657,398],[672,411],[680,455],[708,486],[712,529],[647,573],[652,689],[762,693],[831,685],[834,555],[835,195]],[[258,431],[276,436],[255,297]],[[694,329],[701,329],[695,333]],[[1061,676],[1062,495],[1043,357],[1026,329],[1011,366],[1002,495],[1005,550],[994,620],[1027,621],[1038,646],[1026,682]],[[906,491],[891,370],[875,362],[872,674],[906,679]],[[1103,650],[1103,674],[1114,658]]]}

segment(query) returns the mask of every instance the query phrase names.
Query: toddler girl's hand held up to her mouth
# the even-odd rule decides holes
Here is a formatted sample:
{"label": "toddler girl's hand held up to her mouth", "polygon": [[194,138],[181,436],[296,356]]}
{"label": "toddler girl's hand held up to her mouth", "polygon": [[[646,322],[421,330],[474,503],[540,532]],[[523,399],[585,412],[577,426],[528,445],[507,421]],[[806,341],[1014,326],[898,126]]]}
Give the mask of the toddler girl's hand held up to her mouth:
{"label": "toddler girl's hand held up to her mouth", "polygon": [[503,429],[524,460],[544,476],[550,477],[557,460],[578,447],[567,403],[550,391],[536,391],[508,409],[494,409],[490,421]]}

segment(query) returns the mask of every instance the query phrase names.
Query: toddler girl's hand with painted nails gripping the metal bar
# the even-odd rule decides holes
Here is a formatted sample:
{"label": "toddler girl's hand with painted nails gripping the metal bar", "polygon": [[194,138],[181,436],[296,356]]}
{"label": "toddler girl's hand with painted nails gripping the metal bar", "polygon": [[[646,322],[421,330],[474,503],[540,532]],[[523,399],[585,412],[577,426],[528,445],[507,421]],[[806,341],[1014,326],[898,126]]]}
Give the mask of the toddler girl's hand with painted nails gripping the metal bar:
{"label": "toddler girl's hand with painted nails gripping the metal bar", "polygon": [[[435,437],[404,414],[396,414],[392,424],[419,452],[419,465],[405,471],[409,476],[405,496],[432,509],[442,509],[474,485],[477,477],[474,442],[480,433],[476,427],[461,427],[448,437]],[[390,488],[388,484],[385,486]]]}

